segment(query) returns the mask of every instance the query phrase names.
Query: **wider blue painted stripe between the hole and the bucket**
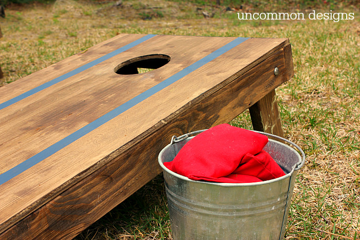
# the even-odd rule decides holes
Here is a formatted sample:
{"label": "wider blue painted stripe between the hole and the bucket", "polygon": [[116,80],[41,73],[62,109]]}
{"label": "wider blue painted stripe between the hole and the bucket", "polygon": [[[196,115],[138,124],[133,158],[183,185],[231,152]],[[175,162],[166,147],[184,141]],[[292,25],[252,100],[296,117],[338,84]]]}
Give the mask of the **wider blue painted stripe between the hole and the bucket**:
{"label": "wider blue painted stripe between the hole and the bucket", "polygon": [[104,123],[110,121],[111,119],[117,117],[121,113],[125,112],[126,110],[130,109],[131,107],[135,106],[136,104],[140,103],[141,101],[149,98],[150,96],[156,94],[161,89],[171,85],[172,83],[176,82],[177,80],[185,77],[192,71],[204,66],[208,62],[214,60],[215,58],[221,56],[223,53],[227,52],[228,50],[238,46],[242,42],[247,40],[247,38],[237,38],[232,42],[224,45],[223,47],[215,50],[214,52],[210,53],[208,56],[204,57],[203,59],[191,64],[190,66],[184,68],[183,70],[175,73],[175,75],[171,76],[170,78],[164,80],[163,82],[158,83],[157,85],[149,88],[148,90],[144,91],[143,93],[139,94],[138,96],[134,97],[133,99],[129,100],[121,104],[120,106],[116,107],[115,109],[111,110],[109,113],[101,116],[100,118],[96,119],[95,121],[87,124],[86,126],[80,128],[78,131],[70,134],[69,136],[63,138],[62,140],[58,141],[57,143],[47,147],[47,149],[41,151],[40,153],[30,157],[29,159],[25,160],[24,162],[16,165],[14,168],[8,170],[7,172],[0,175],[0,185],[4,182],[10,180],[11,178],[23,173],[27,169],[31,168],[33,165],[41,162],[45,158],[55,154],[56,152],[63,149],[65,146],[73,143],[74,141],[78,140],[79,138],[85,136],[86,134],[92,132],[99,126],[103,125]]}

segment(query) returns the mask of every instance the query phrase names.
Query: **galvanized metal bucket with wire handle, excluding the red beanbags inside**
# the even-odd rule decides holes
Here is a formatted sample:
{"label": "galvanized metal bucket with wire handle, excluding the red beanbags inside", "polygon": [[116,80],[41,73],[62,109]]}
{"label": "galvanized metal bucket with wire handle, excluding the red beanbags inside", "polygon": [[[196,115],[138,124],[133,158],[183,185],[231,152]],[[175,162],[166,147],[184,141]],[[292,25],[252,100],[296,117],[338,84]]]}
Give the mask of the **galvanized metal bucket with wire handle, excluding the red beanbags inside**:
{"label": "galvanized metal bucket with wire handle, excluding the red beanbags inside", "polygon": [[[264,147],[285,176],[253,183],[194,181],[164,166],[191,138],[173,137],[159,154],[174,239],[283,239],[297,171],[305,154],[295,143],[262,133],[295,146],[269,139]],[[204,143],[206,144],[206,143]]]}

